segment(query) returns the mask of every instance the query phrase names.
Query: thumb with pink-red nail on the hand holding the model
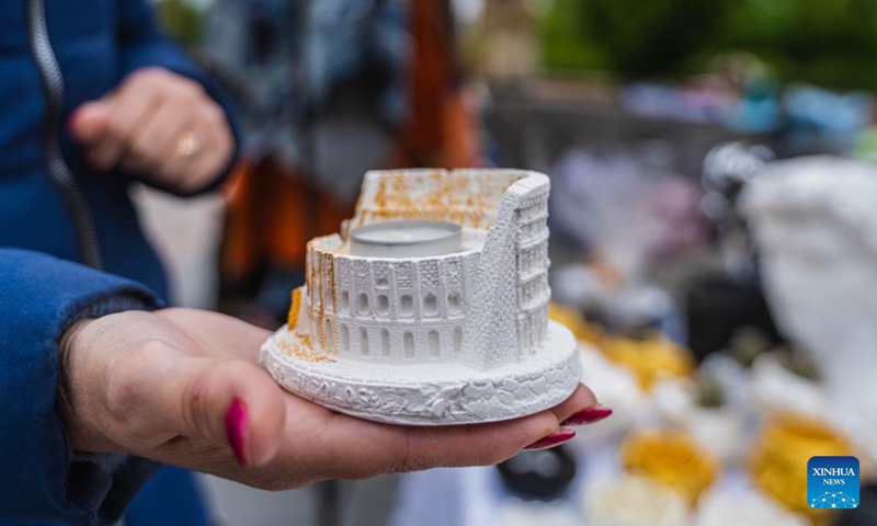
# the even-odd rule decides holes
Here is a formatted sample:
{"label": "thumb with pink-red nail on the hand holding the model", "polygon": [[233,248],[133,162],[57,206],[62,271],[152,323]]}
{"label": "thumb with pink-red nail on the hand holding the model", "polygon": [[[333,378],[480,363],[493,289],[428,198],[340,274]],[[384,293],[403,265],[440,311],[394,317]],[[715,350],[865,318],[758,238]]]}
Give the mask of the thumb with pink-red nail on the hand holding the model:
{"label": "thumb with pink-red nail on the hand holding the model", "polygon": [[161,390],[174,432],[229,447],[243,466],[269,462],[283,438],[284,391],[267,373],[240,359],[184,361]]}

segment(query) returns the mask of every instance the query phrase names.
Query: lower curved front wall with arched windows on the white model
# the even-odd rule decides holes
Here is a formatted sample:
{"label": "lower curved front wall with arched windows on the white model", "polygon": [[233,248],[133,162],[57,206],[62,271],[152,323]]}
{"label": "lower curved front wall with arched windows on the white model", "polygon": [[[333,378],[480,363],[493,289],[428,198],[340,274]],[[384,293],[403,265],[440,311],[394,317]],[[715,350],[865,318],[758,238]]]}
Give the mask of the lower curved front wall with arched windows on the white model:
{"label": "lower curved front wall with arched windows on the white model", "polygon": [[478,251],[380,260],[332,252],[339,242],[338,236],[319,238],[309,250],[312,267],[322,267],[309,272],[319,291],[308,298],[316,295],[319,301],[309,299],[305,307],[310,327],[329,327],[332,333],[315,338],[317,348],[354,361],[458,357],[471,304],[466,284],[477,272]]}

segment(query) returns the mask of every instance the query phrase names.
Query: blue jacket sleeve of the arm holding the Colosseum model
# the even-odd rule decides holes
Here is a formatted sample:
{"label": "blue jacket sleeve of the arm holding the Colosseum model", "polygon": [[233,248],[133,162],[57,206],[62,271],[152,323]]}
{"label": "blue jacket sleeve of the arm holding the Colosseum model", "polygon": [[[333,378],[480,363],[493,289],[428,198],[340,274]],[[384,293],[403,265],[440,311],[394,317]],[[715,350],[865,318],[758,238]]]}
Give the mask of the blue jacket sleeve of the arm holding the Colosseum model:
{"label": "blue jacket sleeve of the arm holding the Colosseum model", "polygon": [[135,282],[0,248],[0,521],[112,524],[156,469],[137,457],[75,453],[56,393],[67,328],[157,307]]}

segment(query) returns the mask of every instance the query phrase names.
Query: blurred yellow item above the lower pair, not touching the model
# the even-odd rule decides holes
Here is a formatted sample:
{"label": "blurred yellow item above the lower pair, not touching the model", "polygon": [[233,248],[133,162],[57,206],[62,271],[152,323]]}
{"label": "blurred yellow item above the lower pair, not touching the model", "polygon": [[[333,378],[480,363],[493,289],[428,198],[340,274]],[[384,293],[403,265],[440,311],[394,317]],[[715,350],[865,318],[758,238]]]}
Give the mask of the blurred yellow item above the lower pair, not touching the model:
{"label": "blurred yellow item above the lower pair, not touching the model", "polygon": [[610,361],[633,371],[643,391],[662,378],[686,378],[694,373],[691,353],[657,332],[641,341],[604,339],[597,346]]}

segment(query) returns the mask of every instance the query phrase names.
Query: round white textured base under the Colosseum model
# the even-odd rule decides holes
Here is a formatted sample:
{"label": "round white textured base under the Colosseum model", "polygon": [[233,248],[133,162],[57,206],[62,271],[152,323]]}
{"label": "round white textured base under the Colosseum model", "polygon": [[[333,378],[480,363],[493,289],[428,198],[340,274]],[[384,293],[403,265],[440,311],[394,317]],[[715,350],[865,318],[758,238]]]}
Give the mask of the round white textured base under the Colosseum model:
{"label": "round white textured base under the Colosseum model", "polygon": [[260,363],[281,386],[334,411],[392,424],[471,424],[533,414],[566,400],[581,376],[576,340],[556,322],[549,322],[535,355],[491,370],[344,356],[314,362],[284,351],[283,341],[296,338],[284,327],[262,345]]}

